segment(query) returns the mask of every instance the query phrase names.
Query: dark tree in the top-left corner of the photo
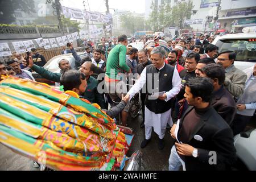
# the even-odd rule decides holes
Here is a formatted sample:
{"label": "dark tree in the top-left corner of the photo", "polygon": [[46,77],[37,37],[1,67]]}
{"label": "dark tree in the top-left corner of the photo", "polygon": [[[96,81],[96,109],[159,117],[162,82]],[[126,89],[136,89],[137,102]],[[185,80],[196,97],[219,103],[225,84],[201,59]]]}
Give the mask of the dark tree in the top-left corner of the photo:
{"label": "dark tree in the top-left corner of the photo", "polygon": [[15,22],[15,10],[36,13],[33,0],[0,1],[0,24],[11,24]]}

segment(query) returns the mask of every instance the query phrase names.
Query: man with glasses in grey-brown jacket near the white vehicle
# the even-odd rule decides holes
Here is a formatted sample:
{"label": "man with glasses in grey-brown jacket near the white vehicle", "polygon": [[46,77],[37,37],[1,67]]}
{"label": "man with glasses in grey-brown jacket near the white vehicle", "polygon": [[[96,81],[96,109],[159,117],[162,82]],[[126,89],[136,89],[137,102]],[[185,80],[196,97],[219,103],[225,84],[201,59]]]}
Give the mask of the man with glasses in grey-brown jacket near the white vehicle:
{"label": "man with glasses in grey-brown jacket near the white vehicle", "polygon": [[217,64],[225,69],[226,79],[224,86],[234,97],[242,96],[245,89],[247,75],[234,66],[236,53],[233,51],[221,52],[217,58]]}

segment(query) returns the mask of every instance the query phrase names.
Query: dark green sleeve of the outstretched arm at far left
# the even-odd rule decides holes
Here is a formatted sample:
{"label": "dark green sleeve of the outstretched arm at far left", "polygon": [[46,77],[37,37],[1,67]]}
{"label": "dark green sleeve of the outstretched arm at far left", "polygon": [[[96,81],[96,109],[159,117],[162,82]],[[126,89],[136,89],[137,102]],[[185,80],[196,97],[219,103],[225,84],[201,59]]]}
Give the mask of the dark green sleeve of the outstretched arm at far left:
{"label": "dark green sleeve of the outstretched arm at far left", "polygon": [[44,69],[43,67],[39,67],[38,65],[33,65],[32,68],[36,73],[38,73],[40,76],[51,80],[51,81],[55,81],[55,82],[60,82],[60,73],[52,73],[50,71],[48,71],[47,69]]}

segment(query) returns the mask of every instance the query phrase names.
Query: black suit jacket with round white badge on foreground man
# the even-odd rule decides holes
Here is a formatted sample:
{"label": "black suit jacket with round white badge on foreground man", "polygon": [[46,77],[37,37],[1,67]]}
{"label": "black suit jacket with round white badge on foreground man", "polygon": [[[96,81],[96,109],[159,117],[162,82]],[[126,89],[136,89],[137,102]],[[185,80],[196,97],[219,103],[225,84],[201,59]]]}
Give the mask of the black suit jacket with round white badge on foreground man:
{"label": "black suit jacket with round white badge on foreground man", "polygon": [[[183,118],[181,118],[180,128],[183,119],[192,109],[194,109],[194,107],[189,107]],[[197,137],[199,135],[203,140],[195,139],[195,135],[197,135]],[[181,156],[184,159],[187,171],[225,170],[227,166],[230,166],[236,160],[236,149],[233,144],[232,130],[212,106],[210,106],[203,117],[201,117],[200,122],[189,136],[188,141],[187,144],[198,149],[199,157]],[[215,151],[217,154],[216,165],[209,164],[209,159],[212,157],[212,155],[209,155],[210,151]]]}

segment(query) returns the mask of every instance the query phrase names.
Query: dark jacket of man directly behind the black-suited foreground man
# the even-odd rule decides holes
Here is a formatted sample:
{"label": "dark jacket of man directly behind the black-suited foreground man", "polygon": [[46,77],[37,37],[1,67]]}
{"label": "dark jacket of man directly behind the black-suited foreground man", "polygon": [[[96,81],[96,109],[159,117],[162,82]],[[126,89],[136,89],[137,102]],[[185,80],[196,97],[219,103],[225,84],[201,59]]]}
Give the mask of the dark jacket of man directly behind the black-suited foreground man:
{"label": "dark jacket of man directly behind the black-suited foreground man", "polygon": [[231,126],[237,113],[237,106],[232,95],[224,88],[224,86],[214,93],[211,105],[228,125]]}

